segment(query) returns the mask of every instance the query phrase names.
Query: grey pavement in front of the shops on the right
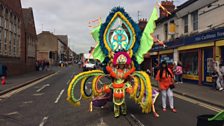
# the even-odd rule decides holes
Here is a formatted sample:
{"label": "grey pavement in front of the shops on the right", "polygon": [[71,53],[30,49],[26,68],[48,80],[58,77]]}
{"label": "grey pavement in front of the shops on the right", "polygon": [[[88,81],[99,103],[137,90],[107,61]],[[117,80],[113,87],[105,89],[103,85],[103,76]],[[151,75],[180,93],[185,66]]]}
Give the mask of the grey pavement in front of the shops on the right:
{"label": "grey pavement in front of the shops on the right", "polygon": [[[151,78],[152,85],[158,87],[155,79]],[[224,91],[218,91],[213,87],[200,86],[191,83],[175,84],[175,93],[205,102],[224,109]]]}

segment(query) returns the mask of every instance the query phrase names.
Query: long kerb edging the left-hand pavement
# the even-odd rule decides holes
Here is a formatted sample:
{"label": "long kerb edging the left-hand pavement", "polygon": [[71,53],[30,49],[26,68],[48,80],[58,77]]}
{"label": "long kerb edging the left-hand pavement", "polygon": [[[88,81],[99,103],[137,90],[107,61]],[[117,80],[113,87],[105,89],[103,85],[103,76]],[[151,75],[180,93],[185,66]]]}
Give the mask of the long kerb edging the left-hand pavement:
{"label": "long kerb edging the left-hand pavement", "polygon": [[29,85],[29,84],[31,84],[31,83],[33,83],[33,82],[35,82],[35,81],[37,81],[37,80],[40,80],[40,79],[42,79],[42,78],[44,78],[44,77],[53,75],[53,74],[55,74],[55,73],[56,73],[56,72],[50,72],[50,73],[48,73],[48,74],[46,74],[46,75],[37,77],[37,78],[35,78],[35,79],[33,79],[33,80],[29,80],[29,81],[27,81],[27,82],[18,84],[17,86],[11,87],[11,88],[6,89],[6,90],[3,90],[3,91],[0,92],[0,96],[6,94],[6,93],[8,93],[8,92],[11,92],[11,91],[13,91],[13,90],[16,90],[16,89],[19,89],[19,88],[21,88],[21,87],[24,87],[24,86],[26,86],[26,85]]}

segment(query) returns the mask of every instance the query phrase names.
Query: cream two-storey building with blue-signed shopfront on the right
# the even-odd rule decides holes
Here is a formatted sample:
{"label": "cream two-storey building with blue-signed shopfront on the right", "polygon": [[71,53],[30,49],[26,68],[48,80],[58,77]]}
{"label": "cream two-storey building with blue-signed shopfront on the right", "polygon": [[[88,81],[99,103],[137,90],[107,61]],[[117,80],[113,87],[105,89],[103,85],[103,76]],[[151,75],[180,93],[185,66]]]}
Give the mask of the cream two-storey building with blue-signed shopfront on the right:
{"label": "cream two-storey building with blue-signed shopfront on the right", "polygon": [[211,85],[212,62],[223,62],[224,58],[223,11],[223,0],[189,0],[171,15],[160,17],[154,36],[167,47],[155,45],[152,48],[149,52],[151,68],[153,62],[181,61],[184,79]]}

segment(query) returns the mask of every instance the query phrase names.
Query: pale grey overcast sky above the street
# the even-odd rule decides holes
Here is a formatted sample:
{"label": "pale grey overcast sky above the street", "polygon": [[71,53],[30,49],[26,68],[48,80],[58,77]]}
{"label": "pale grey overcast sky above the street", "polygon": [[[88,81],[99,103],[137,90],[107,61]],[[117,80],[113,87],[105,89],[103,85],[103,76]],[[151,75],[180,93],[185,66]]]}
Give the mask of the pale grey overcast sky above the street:
{"label": "pale grey overcast sky above the street", "polygon": [[[101,17],[103,22],[115,6],[124,7],[137,21],[151,15],[157,0],[21,0],[22,7],[32,7],[37,33],[42,30],[58,35],[68,35],[70,48],[77,52],[88,52],[95,46],[88,27],[89,20]],[[180,5],[187,0],[176,0]]]}

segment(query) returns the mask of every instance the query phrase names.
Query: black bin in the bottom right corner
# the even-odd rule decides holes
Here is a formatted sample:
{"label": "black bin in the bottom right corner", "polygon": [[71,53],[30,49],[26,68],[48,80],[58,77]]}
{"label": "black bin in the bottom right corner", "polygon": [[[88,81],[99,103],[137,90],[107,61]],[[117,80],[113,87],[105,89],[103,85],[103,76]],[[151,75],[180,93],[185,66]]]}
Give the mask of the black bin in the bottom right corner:
{"label": "black bin in the bottom right corner", "polygon": [[224,120],[212,120],[208,121],[209,118],[214,115],[200,115],[197,117],[197,126],[223,126]]}

